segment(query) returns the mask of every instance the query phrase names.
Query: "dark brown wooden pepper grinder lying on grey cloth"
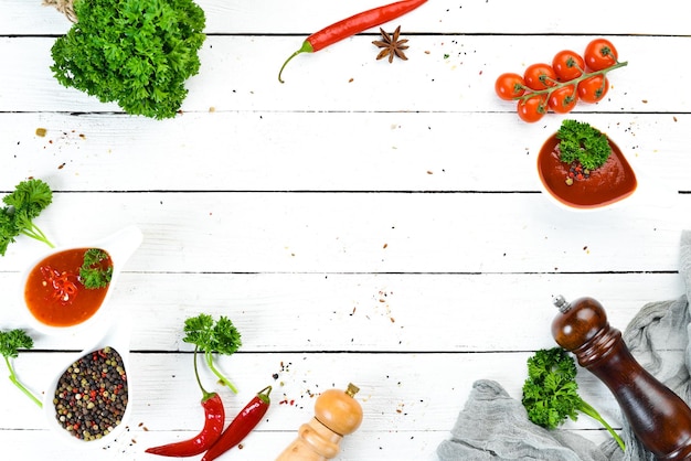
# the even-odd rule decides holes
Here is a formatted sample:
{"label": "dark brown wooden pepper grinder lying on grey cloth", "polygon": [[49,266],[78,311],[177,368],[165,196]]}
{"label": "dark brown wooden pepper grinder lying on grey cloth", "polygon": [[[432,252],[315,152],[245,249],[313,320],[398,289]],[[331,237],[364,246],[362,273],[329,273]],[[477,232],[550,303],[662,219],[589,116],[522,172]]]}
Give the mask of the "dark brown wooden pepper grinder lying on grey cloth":
{"label": "dark brown wooden pepper grinder lying on grey cloth", "polygon": [[554,340],[609,387],[648,451],[658,460],[691,459],[691,409],[636,362],[603,305],[593,298],[570,303],[562,296],[554,305],[561,311],[552,322]]}

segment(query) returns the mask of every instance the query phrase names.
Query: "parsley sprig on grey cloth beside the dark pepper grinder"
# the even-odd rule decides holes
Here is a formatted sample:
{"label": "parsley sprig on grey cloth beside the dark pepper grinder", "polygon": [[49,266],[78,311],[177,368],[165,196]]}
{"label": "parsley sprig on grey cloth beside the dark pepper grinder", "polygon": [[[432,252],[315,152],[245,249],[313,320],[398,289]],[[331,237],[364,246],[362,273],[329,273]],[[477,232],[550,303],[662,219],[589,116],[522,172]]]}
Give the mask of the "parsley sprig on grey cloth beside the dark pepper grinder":
{"label": "parsley sprig on grey cloth beside the dark pepper grinder", "polygon": [[575,421],[581,411],[602,424],[624,450],[619,435],[578,395],[576,373],[575,361],[562,347],[543,349],[528,358],[522,398],[528,418],[538,426],[555,429],[566,418]]}

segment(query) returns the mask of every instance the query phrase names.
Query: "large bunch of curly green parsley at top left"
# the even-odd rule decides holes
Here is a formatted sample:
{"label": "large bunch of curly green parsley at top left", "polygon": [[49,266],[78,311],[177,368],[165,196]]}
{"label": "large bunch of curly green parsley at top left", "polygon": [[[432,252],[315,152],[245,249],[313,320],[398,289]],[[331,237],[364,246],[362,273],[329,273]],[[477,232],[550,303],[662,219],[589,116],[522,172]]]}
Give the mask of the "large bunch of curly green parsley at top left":
{"label": "large bunch of curly green parsley at top left", "polygon": [[55,78],[127,114],[174,117],[200,68],[204,11],[192,0],[75,0],[52,47]]}

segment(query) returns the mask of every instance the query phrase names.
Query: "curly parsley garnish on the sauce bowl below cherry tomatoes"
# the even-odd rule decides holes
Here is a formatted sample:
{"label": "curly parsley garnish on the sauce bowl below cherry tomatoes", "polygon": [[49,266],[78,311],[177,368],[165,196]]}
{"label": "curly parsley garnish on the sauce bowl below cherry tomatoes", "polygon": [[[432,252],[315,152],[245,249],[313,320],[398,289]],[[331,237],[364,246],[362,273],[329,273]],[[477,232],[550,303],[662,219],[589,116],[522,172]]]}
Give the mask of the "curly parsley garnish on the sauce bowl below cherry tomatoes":
{"label": "curly parsley garnish on the sauce bowl below cherry tomatoes", "polygon": [[583,121],[563,120],[556,138],[562,162],[578,162],[591,171],[605,164],[612,154],[607,136]]}

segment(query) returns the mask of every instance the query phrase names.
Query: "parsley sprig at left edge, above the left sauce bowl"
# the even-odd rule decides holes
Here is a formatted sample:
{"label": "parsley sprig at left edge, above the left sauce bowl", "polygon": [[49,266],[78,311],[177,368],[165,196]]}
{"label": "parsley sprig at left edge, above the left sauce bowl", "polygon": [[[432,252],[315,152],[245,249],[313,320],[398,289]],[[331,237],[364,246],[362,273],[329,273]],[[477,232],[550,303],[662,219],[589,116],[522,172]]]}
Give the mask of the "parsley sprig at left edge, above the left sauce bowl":
{"label": "parsley sprig at left edge, above the left sauce bowl", "polygon": [[2,199],[7,206],[0,208],[1,256],[4,256],[8,246],[15,242],[19,235],[35,238],[53,248],[53,244],[33,222],[52,201],[51,187],[34,178],[20,182],[14,192]]}

